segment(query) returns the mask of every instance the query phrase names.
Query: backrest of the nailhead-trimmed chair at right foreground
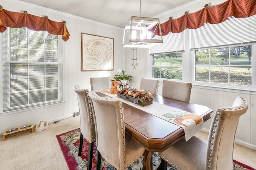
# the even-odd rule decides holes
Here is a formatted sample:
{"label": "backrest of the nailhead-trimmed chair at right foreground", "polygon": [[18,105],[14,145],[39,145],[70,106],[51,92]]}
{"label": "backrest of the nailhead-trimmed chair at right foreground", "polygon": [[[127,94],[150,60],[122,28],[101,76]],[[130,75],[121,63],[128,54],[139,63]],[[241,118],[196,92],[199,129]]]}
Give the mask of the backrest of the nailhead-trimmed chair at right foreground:
{"label": "backrest of the nailhead-trimmed chair at right foreground", "polygon": [[212,118],[208,136],[206,169],[228,170],[233,167],[233,149],[239,118],[248,104],[237,97],[232,107],[218,108]]}

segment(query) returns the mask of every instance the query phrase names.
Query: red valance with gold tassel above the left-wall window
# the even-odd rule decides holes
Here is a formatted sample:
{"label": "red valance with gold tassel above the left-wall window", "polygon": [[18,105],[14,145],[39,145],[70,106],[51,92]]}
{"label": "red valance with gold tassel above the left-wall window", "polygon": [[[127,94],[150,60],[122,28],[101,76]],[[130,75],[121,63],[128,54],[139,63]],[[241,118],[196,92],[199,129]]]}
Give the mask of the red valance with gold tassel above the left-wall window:
{"label": "red valance with gold tassel above the left-wall window", "polygon": [[25,12],[10,12],[0,6],[0,31],[4,32],[6,27],[27,27],[35,31],[48,31],[50,34],[62,35],[64,41],[67,41],[70,36],[65,21],[56,22],[47,17],[33,16]]}

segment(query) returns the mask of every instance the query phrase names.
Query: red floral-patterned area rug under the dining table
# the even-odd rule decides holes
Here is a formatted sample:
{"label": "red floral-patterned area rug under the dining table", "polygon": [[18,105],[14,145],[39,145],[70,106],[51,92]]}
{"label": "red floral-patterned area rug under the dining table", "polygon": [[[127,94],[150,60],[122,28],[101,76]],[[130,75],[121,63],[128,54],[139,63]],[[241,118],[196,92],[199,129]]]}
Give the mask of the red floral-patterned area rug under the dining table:
{"label": "red floral-patterned area rug under the dining table", "polygon": [[[78,149],[80,143],[80,129],[75,129],[60,135],[56,135],[57,140],[60,144],[60,149],[64,155],[64,158],[67,162],[68,168],[70,170],[86,170],[87,159],[88,159],[88,147],[89,144],[84,139],[82,155],[78,156]],[[92,169],[96,169],[96,144],[94,143],[93,151],[93,160],[92,160]],[[160,164],[160,158],[157,156],[157,153],[153,155],[153,169],[158,168]],[[250,166],[244,165],[236,160],[233,162],[233,170],[255,170]],[[104,158],[101,159],[101,170],[114,170],[115,168],[110,165]],[[172,166],[168,166],[168,170],[176,170]],[[142,159],[137,160],[131,166],[126,168],[126,170],[142,170]]]}

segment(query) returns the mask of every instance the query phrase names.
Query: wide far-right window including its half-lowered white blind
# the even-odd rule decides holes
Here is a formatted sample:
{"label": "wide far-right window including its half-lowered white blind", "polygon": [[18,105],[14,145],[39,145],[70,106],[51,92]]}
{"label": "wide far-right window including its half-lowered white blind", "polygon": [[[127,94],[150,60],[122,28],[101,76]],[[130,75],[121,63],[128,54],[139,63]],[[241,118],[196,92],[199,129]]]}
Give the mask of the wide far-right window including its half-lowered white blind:
{"label": "wide far-right window including its half-lowered white blind", "polygon": [[254,89],[255,29],[256,16],[191,29],[194,84]]}

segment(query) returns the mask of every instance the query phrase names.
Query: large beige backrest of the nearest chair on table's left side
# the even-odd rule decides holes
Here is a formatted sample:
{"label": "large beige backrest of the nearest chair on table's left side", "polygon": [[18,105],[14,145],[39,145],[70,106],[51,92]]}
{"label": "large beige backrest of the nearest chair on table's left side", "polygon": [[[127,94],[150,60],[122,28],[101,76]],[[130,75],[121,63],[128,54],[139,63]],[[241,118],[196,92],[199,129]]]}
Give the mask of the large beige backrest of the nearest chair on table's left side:
{"label": "large beige backrest of the nearest chair on table's left side", "polygon": [[125,129],[122,102],[101,98],[90,91],[96,127],[96,145],[100,154],[116,169],[123,169],[125,160]]}

